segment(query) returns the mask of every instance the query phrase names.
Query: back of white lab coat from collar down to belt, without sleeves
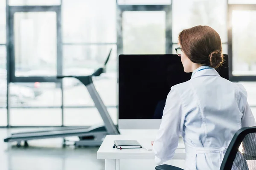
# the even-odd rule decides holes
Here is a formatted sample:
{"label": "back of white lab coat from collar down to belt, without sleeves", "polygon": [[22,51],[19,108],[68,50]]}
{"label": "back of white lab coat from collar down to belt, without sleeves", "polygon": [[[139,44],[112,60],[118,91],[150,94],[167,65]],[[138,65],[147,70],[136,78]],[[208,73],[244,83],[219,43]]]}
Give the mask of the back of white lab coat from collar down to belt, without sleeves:
{"label": "back of white lab coat from collar down to belt, without sleeves", "polygon": [[198,71],[191,80],[174,87],[187,109],[183,131],[192,136],[201,132],[194,143],[202,147],[228,146],[229,141],[223,139],[231,141],[241,128],[246,92],[217,74],[212,69]]}

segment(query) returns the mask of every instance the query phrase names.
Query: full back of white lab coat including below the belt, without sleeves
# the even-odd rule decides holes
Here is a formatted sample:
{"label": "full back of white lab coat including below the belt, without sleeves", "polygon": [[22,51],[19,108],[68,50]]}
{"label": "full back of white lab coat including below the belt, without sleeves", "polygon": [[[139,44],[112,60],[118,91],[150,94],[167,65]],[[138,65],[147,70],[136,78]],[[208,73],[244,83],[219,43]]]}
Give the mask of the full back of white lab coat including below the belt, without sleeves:
{"label": "full back of white lab coat including below the belt, without sleeves", "polygon": [[218,169],[231,139],[242,127],[245,89],[221,78],[214,69],[204,69],[172,90],[180,95],[185,108],[180,123],[186,164],[199,170]]}

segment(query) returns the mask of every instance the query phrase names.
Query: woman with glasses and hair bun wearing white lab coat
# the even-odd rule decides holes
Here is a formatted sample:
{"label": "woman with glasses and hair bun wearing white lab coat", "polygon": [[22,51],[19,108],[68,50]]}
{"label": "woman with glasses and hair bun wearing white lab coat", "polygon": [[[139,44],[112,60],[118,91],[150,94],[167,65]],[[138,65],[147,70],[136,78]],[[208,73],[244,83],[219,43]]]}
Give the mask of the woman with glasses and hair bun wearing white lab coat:
{"label": "woman with glasses and hair bun wearing white lab coat", "polygon": [[[242,85],[220,77],[224,61],[219,34],[209,26],[180,32],[176,48],[189,81],[172,86],[153,144],[155,161],[172,159],[183,137],[186,170],[219,170],[231,139],[241,127],[256,125]],[[180,51],[180,52],[179,52]]]}

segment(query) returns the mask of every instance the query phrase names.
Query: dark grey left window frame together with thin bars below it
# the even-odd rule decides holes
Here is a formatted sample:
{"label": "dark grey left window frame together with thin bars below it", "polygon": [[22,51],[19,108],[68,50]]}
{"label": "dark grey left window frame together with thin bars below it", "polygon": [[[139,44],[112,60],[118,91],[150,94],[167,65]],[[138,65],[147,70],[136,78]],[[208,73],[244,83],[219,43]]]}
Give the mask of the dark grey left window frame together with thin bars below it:
{"label": "dark grey left window frame together with thin bars below it", "polygon": [[[46,76],[27,76],[16,77],[15,76],[15,53],[14,53],[14,14],[15,12],[56,12],[56,48],[57,48],[57,75],[62,75],[62,35],[61,35],[61,5],[58,6],[10,6],[8,0],[6,0],[6,71],[7,71],[7,127],[34,127],[34,126],[12,126],[10,121],[10,82],[55,82],[60,84],[61,87],[61,106],[55,106],[54,108],[61,108],[61,117],[63,125],[63,85],[62,80],[57,77]],[[12,107],[23,108],[23,107]],[[26,107],[26,108],[45,108],[41,107]],[[51,108],[51,107],[50,107]],[[55,127],[55,126],[43,126],[43,127]],[[58,126],[59,127],[59,126]]]}

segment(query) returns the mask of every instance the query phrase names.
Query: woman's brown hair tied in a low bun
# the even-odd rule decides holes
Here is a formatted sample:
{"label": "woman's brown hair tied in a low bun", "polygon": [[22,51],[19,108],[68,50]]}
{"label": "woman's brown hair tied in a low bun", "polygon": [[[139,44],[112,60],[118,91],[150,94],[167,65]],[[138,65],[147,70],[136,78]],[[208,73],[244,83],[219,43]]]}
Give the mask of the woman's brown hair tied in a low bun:
{"label": "woman's brown hair tied in a low bun", "polygon": [[224,62],[219,34],[209,26],[184,29],[179,44],[189,59],[197,64],[218,68]]}

